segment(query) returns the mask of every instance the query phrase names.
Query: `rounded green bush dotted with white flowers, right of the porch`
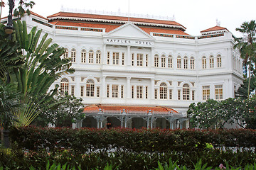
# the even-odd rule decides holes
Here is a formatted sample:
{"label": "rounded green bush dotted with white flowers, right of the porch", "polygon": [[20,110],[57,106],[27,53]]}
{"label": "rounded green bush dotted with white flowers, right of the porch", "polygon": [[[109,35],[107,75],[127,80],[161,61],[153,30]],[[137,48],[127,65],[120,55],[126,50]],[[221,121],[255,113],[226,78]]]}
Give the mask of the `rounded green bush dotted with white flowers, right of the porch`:
{"label": "rounded green bush dotted with white flowers, right of the porch", "polygon": [[191,103],[188,118],[194,128],[224,128],[225,123],[236,123],[242,128],[252,128],[251,120],[256,118],[256,100],[249,98],[228,98],[223,101],[210,99],[206,102]]}

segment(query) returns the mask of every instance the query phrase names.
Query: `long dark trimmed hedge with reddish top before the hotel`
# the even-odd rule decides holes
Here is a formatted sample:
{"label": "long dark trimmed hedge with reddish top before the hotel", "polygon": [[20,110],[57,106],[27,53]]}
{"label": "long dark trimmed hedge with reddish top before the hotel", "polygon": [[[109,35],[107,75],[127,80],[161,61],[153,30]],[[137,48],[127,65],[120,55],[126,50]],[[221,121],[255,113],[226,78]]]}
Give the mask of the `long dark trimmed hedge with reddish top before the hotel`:
{"label": "long dark trimmed hedge with reddish top before the hotel", "polygon": [[256,130],[166,130],[128,128],[38,128],[28,126],[11,130],[11,142],[18,147],[36,150],[70,149],[78,153],[124,152],[187,152],[234,147],[255,152]]}

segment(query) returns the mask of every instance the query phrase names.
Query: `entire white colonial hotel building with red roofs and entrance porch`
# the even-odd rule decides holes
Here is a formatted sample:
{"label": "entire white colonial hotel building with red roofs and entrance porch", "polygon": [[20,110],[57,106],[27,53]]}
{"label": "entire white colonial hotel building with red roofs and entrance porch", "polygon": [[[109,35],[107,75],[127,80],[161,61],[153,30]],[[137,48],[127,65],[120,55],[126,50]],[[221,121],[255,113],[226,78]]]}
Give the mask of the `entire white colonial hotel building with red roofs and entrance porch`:
{"label": "entire white colonial hotel building with red roofs and entrance porch", "polygon": [[193,36],[175,21],[68,12],[23,20],[72,58],[75,73],[55,84],[83,99],[86,118],[77,127],[185,128],[191,103],[234,97],[242,83],[227,28]]}

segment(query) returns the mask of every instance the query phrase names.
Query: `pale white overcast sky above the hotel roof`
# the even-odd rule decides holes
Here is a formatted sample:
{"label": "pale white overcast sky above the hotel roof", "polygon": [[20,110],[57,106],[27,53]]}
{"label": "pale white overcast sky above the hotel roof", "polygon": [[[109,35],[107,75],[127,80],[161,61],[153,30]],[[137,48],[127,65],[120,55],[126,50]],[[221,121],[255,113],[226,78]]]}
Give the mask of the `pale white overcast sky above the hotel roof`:
{"label": "pale white overcast sky above the hotel roof", "polygon": [[[3,0],[7,4],[7,0]],[[216,26],[235,31],[245,21],[256,20],[256,0],[33,0],[36,5],[31,11],[47,17],[62,11],[108,11],[113,13],[136,13],[173,17],[174,21],[186,27],[186,33],[201,35],[200,31]],[[18,0],[16,0],[18,4]],[[2,17],[7,16],[9,7],[3,8]]]}

